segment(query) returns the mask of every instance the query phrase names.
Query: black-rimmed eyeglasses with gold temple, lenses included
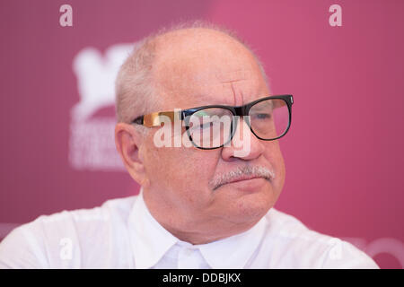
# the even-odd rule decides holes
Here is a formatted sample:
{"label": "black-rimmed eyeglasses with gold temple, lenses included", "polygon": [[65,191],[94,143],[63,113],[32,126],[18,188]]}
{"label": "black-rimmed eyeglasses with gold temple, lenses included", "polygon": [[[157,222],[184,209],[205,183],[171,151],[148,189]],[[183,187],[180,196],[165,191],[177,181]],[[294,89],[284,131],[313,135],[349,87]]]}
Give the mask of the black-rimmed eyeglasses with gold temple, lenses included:
{"label": "black-rimmed eyeglasses with gold temple, lenses included", "polygon": [[199,149],[211,150],[232,141],[239,117],[260,140],[273,141],[284,136],[291,125],[293,103],[292,95],[275,95],[238,107],[211,105],[154,112],[136,117],[132,123],[153,127],[165,123],[162,117],[171,122],[183,121],[191,143]]}

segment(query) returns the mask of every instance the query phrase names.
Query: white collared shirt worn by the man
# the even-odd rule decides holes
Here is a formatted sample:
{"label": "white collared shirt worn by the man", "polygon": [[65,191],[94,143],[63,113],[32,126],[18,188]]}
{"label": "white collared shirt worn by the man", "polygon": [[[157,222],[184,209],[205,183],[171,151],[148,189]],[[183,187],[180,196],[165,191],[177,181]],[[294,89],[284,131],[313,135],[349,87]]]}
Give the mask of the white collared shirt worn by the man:
{"label": "white collared shirt worn by the man", "polygon": [[42,215],[0,243],[0,268],[378,268],[350,243],[274,208],[241,234],[208,244],[177,239],[143,192],[88,210]]}

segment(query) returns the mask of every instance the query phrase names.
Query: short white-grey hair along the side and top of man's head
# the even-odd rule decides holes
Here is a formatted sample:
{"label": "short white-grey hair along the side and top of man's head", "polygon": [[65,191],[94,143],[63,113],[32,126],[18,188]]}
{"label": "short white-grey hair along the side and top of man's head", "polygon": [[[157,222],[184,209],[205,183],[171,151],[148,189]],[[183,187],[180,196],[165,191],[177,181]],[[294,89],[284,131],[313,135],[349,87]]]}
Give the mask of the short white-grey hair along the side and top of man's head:
{"label": "short white-grey hair along the side and top of man's head", "polygon": [[[136,47],[129,57],[127,57],[125,63],[121,65],[116,80],[116,113],[118,122],[130,123],[135,117],[155,111],[154,109],[156,109],[158,99],[154,92],[152,67],[156,54],[156,39],[171,31],[191,28],[221,31],[241,43],[245,48],[250,50],[250,53],[256,59],[259,69],[268,85],[268,78],[259,58],[233,31],[226,30],[210,22],[181,22],[170,28],[162,28],[162,30],[159,30],[157,33],[142,39],[136,44]],[[143,127],[142,130],[145,131],[145,127]]]}

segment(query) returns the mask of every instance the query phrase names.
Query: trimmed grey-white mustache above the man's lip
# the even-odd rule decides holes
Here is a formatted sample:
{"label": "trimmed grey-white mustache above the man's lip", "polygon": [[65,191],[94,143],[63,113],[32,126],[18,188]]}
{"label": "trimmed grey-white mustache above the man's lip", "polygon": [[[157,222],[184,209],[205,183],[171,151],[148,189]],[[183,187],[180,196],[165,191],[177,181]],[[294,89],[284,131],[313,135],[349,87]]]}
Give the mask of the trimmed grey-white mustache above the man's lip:
{"label": "trimmed grey-white mustache above the man's lip", "polygon": [[219,187],[224,186],[227,183],[233,182],[238,179],[242,179],[244,177],[265,178],[269,181],[272,181],[275,178],[275,172],[262,166],[238,167],[236,170],[232,170],[230,172],[224,173],[222,175],[213,178],[212,180],[209,181],[209,186],[213,190],[215,190]]}

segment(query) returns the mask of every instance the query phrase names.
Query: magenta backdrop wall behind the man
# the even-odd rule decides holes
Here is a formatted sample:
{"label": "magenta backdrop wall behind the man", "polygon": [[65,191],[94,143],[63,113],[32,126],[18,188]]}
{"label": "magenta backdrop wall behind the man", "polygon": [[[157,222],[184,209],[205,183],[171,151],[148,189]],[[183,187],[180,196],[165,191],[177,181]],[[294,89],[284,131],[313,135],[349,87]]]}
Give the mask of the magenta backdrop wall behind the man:
{"label": "magenta backdrop wall behind the man", "polygon": [[[62,4],[73,27],[59,24]],[[0,239],[40,214],[138,192],[113,146],[120,44],[206,19],[250,43],[273,93],[294,94],[276,207],[402,268],[403,13],[400,0],[2,1]]]}

